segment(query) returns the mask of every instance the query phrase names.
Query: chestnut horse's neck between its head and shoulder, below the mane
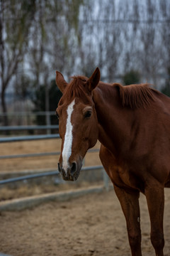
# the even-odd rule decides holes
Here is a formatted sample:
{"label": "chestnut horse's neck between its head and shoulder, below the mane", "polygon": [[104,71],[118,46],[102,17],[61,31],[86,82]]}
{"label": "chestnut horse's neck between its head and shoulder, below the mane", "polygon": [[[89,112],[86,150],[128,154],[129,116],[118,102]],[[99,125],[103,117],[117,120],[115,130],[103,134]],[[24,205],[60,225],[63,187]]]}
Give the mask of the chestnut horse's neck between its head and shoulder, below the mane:
{"label": "chestnut horse's neck between its head and shoulder, below the mane", "polygon": [[94,104],[98,117],[98,140],[114,154],[129,145],[133,113],[123,108],[116,87],[100,83],[94,90]]}

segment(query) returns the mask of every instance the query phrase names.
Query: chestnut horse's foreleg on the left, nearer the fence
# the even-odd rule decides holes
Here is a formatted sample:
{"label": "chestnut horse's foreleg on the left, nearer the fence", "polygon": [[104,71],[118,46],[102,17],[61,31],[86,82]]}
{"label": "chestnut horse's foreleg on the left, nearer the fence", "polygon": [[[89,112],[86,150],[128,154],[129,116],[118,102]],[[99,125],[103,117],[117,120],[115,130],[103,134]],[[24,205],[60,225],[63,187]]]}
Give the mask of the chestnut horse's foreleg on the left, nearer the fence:
{"label": "chestnut horse's foreleg on the left, nearer the fence", "polygon": [[127,193],[123,188],[118,188],[115,185],[114,188],[125,215],[132,256],[142,256],[139,206],[140,193],[138,191]]}

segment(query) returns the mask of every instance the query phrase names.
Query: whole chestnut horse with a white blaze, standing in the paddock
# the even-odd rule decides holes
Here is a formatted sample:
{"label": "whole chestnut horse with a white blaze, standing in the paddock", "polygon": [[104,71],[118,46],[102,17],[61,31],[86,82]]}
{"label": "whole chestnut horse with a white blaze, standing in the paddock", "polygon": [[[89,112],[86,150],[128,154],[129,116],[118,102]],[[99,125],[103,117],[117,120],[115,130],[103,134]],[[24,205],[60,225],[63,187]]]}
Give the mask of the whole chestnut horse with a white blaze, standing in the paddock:
{"label": "whole chestnut horse with a white blaze, standing in the paddock", "polygon": [[100,158],[125,215],[132,256],[141,256],[140,192],[147,198],[151,241],[163,256],[164,187],[170,186],[170,99],[148,85],[100,82],[98,68],[88,79],[67,83],[56,72],[63,95],[57,107],[64,180],[79,176],[86,151],[101,142]]}

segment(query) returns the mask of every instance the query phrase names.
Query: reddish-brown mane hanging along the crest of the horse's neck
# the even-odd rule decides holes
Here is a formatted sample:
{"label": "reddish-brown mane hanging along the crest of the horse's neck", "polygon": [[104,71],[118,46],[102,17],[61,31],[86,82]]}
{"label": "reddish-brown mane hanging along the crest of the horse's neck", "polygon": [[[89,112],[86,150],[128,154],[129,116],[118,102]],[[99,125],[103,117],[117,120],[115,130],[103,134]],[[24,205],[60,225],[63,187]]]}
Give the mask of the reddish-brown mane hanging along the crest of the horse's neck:
{"label": "reddish-brown mane hanging along the crest of the horse's neck", "polygon": [[118,87],[123,107],[127,106],[132,109],[147,107],[150,102],[154,101],[153,90],[148,84],[123,86],[116,83],[113,85]]}

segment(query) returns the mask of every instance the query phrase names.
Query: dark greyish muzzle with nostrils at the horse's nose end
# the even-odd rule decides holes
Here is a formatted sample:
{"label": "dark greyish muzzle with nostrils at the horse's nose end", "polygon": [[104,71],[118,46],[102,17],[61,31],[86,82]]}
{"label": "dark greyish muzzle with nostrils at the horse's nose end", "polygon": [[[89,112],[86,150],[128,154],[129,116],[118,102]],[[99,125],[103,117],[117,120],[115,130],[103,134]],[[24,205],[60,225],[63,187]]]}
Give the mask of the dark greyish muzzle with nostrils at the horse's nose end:
{"label": "dark greyish muzzle with nostrils at the horse's nose end", "polygon": [[64,181],[77,181],[77,178],[79,177],[79,173],[81,170],[81,166],[81,161],[79,161],[78,163],[74,161],[65,170],[62,167],[62,164],[58,163],[58,171],[60,172],[60,174],[62,174],[62,178],[64,179]]}

